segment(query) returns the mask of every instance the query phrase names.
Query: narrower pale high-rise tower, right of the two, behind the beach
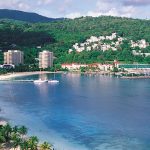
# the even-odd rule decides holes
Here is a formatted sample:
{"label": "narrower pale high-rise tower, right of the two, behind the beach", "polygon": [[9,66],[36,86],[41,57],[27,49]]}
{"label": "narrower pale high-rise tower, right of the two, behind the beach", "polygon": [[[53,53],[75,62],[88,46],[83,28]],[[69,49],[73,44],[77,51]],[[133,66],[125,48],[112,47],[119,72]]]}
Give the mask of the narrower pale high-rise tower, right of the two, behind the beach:
{"label": "narrower pale high-rise tower, right of the two, behind the beach", "polygon": [[53,66],[53,52],[47,50],[39,53],[39,68],[46,69]]}

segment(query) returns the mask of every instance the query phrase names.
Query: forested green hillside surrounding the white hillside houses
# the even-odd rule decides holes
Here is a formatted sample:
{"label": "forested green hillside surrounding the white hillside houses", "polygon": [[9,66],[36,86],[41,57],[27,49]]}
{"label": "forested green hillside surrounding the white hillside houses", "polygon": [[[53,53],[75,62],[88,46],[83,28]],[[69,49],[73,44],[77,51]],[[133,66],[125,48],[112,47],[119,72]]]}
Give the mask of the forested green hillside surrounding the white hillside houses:
{"label": "forested green hillside surrounding the white hillside houses", "polygon": [[[68,50],[74,43],[81,43],[90,36],[111,35],[116,32],[127,40],[118,48],[118,51],[108,50],[82,53]],[[21,49],[25,52],[25,63],[38,65],[38,52],[44,49],[53,51],[55,64],[62,63],[93,63],[106,62],[117,59],[125,63],[150,63],[150,57],[133,56],[129,40],[146,39],[150,42],[150,21],[118,18],[118,17],[81,17],[78,19],[65,19],[51,23],[26,23],[19,21],[0,21],[0,49]],[[42,48],[37,46],[41,46]],[[138,50],[136,48],[135,50]],[[150,47],[143,49],[150,52]],[[2,54],[0,54],[2,61]]]}

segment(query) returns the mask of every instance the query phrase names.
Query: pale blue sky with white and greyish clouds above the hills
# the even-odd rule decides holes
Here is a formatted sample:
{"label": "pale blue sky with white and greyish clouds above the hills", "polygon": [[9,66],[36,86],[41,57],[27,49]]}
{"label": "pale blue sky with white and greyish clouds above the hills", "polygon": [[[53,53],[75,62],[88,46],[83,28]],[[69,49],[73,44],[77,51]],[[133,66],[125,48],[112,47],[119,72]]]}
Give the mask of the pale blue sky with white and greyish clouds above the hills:
{"label": "pale blue sky with white and greyish clouds above the hills", "polygon": [[109,15],[150,19],[150,0],[0,0],[0,9],[35,12],[51,18]]}

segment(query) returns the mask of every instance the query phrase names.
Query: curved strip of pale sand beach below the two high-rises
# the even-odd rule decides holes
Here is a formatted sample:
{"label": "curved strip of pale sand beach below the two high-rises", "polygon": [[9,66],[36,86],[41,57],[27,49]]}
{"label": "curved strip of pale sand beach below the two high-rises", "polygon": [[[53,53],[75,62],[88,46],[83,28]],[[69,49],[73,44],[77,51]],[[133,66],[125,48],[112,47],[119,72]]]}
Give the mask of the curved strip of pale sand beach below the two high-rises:
{"label": "curved strip of pale sand beach below the two high-rises", "polygon": [[16,73],[8,73],[4,75],[0,75],[0,80],[10,80],[11,78],[15,77],[22,77],[22,76],[30,76],[36,74],[45,74],[45,73],[52,73],[49,71],[36,71],[36,72],[16,72]]}

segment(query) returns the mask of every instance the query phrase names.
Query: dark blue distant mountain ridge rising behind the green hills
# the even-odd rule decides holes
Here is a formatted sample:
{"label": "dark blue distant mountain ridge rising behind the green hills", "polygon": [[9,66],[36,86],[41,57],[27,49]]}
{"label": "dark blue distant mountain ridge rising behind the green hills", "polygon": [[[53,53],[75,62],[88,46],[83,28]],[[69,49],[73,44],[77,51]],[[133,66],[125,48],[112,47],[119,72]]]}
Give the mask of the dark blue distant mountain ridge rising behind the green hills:
{"label": "dark blue distant mountain ridge rising behind the green hills", "polygon": [[52,22],[57,20],[63,20],[63,18],[48,18],[36,13],[29,13],[29,12],[8,10],[8,9],[0,9],[0,19],[13,19],[13,20],[26,21],[31,23]]}

